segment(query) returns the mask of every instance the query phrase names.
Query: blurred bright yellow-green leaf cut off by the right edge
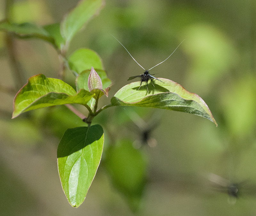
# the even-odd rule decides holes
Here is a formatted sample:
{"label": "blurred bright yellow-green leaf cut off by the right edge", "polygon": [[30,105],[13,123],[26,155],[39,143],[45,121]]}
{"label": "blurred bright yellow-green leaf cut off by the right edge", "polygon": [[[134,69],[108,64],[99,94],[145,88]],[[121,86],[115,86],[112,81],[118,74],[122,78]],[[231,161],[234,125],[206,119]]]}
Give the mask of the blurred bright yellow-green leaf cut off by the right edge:
{"label": "blurred bright yellow-green leaf cut off by the right edge", "polygon": [[253,133],[256,125],[255,75],[245,73],[243,77],[227,83],[221,91],[220,104],[230,134],[237,139]]}

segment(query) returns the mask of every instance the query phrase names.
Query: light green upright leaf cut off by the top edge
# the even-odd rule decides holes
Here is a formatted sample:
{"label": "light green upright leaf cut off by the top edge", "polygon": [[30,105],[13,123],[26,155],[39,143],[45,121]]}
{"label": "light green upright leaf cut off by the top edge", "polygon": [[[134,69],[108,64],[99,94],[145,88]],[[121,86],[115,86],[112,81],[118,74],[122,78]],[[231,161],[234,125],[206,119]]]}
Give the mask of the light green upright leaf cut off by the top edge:
{"label": "light green upright leaf cut off by the top edge", "polygon": [[69,43],[84,24],[99,12],[102,0],[81,1],[62,21],[60,32],[64,40]]}

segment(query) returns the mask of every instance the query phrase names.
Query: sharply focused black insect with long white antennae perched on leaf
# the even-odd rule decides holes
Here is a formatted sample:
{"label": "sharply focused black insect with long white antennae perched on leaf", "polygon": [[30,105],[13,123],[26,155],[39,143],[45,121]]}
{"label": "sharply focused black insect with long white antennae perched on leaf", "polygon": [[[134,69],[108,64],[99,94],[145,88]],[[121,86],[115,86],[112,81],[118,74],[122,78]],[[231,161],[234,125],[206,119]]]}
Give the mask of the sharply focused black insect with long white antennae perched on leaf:
{"label": "sharply focused black insect with long white antennae perched on leaf", "polygon": [[[112,35],[113,36],[113,35]],[[114,37],[114,36],[113,36]],[[114,37],[115,38],[115,37]],[[116,39],[116,38],[115,38]],[[117,39],[116,39],[117,40]],[[117,40],[118,41],[118,40]],[[184,41],[184,40],[183,40]],[[182,41],[182,42],[183,42]],[[120,42],[120,41],[118,41],[123,47],[124,47],[124,45]],[[182,43],[181,42],[181,43]],[[181,44],[180,43],[180,44]],[[180,46],[180,44],[179,44],[179,46]],[[177,48],[179,47],[179,46],[177,46]],[[177,48],[175,49],[175,50],[177,50]],[[132,57],[132,55],[130,54],[130,52],[124,47],[124,49],[129,53],[129,55]],[[172,52],[172,54],[175,52],[175,50]],[[171,54],[171,55],[172,55]],[[170,55],[170,56],[171,56]],[[168,58],[170,57],[170,56],[168,56]],[[132,57],[133,58],[133,57]],[[166,61],[168,58],[166,58],[164,61]],[[140,67],[142,67],[134,58],[133,58],[133,60],[140,66]],[[158,65],[160,65],[161,63],[163,63],[164,61],[162,61],[162,62],[160,62],[159,64],[157,64],[157,65],[155,65],[154,67],[156,67],[156,66],[158,66]],[[148,70],[145,70],[145,68],[144,67],[142,67],[144,70],[145,70],[145,72],[144,73],[142,73],[142,74],[140,74],[140,75],[138,75],[138,76],[131,76],[131,77],[129,77],[129,79],[128,80],[132,80],[132,79],[134,79],[134,78],[137,78],[137,77],[141,77],[141,80],[140,80],[140,87],[141,87],[141,84],[142,84],[142,82],[147,82],[147,90],[148,90],[148,80],[150,79],[151,80],[151,82],[152,82],[152,79],[155,79],[155,80],[158,80],[156,77],[154,77],[154,76],[152,76],[152,75],[155,75],[155,74],[152,74],[152,75],[150,75],[149,73],[148,73],[148,71],[149,70],[151,70],[152,68],[154,68],[154,67],[151,67],[150,69],[148,69]],[[128,81],[127,80],[127,81]],[[161,81],[161,80],[158,80],[158,81],[160,81],[160,82],[163,82],[163,81]],[[152,82],[152,84],[153,84],[153,86],[154,86],[154,83]],[[139,89],[140,89],[140,87],[139,87]],[[155,87],[155,86],[154,86]],[[139,90],[138,89],[138,90]]]}

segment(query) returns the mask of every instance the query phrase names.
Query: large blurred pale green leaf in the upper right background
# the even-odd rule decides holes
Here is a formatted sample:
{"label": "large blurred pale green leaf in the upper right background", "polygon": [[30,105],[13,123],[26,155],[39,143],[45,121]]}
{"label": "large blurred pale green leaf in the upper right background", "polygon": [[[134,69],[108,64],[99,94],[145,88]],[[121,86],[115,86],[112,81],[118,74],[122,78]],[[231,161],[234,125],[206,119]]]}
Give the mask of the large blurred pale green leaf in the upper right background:
{"label": "large blurred pale green leaf in the upper right background", "polygon": [[185,50],[191,58],[188,80],[193,89],[208,93],[212,84],[237,64],[237,51],[226,35],[213,26],[188,26]]}

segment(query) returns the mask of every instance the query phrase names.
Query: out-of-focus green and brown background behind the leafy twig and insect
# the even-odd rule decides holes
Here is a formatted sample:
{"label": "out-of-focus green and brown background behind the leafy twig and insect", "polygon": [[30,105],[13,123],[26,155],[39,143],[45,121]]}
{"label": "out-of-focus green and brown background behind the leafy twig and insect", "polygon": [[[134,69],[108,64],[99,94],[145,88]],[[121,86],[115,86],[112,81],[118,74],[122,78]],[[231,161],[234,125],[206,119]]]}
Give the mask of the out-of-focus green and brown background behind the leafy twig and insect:
{"label": "out-of-focus green and brown background behind the leafy twig and insect", "polygon": [[[0,19],[6,2],[0,0]],[[78,1],[14,1],[13,22],[46,25],[60,22]],[[148,184],[139,215],[256,214],[256,2],[255,0],[106,0],[100,14],[70,44],[70,55],[85,47],[102,58],[113,81],[110,98],[128,77],[143,73],[111,36],[114,35],[145,69],[167,58],[151,73],[180,83],[201,96],[218,127],[180,112],[110,108],[95,123],[106,133],[102,163],[84,203],[72,208],[57,170],[57,145],[69,127],[84,125],[65,107],[50,107],[11,120],[12,102],[35,74],[58,78],[59,59],[50,44],[13,38],[0,32],[0,215],[133,215],[126,199],[109,180],[105,149],[115,138],[140,135],[126,112],[159,124],[151,133],[156,146],[142,150],[148,158]],[[110,35],[111,34],[111,35]],[[18,63],[21,77],[17,81]],[[70,74],[66,82],[71,85]],[[138,132],[138,130],[137,130]],[[213,183],[211,173],[238,183],[238,198]]]}

